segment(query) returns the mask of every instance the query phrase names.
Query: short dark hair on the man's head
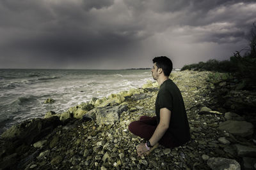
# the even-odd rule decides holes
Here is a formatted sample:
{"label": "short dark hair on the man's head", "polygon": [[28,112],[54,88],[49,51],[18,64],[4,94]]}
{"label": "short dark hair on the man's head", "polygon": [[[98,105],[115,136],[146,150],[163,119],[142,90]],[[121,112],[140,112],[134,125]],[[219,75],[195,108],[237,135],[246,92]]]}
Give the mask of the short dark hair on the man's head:
{"label": "short dark hair on the man's head", "polygon": [[172,60],[166,56],[155,57],[153,63],[156,62],[157,68],[163,69],[164,76],[170,76],[172,72]]}

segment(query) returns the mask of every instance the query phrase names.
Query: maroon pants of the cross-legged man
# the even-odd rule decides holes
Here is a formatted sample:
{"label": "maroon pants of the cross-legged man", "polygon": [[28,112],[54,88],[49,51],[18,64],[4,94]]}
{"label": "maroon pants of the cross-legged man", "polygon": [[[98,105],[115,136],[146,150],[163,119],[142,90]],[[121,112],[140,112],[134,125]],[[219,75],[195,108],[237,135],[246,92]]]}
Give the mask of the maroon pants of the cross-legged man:
{"label": "maroon pants of the cross-legged man", "polygon": [[[136,136],[140,136],[140,138],[144,138],[149,140],[157,127],[156,117],[140,117],[140,120],[131,122],[129,124],[129,131],[135,134]],[[173,138],[169,133],[165,133],[164,136],[158,141],[160,145],[163,145],[166,148],[174,148],[177,145]]]}

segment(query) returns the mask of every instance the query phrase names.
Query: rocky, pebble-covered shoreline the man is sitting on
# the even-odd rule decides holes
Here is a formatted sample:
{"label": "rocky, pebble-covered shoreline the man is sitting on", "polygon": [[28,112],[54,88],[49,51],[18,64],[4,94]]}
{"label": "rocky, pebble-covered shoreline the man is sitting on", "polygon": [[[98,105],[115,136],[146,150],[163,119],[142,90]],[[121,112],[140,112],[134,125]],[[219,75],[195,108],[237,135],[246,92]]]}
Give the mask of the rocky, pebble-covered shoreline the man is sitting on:
{"label": "rocky, pebble-covered shoreline the man is sitting on", "polygon": [[[1,135],[0,169],[256,169],[255,119],[234,113],[238,106],[239,111],[244,104],[255,106],[255,91],[233,90],[225,98],[231,104],[220,106],[216,91],[230,88],[230,83],[225,76],[216,81],[212,74],[171,74],[191,127],[192,139],[186,145],[159,146],[147,157],[137,156],[142,139],[131,134],[128,125],[155,114],[158,85],[148,82],[141,89],[93,98],[60,115],[50,111],[45,118],[11,127]],[[230,94],[247,102],[241,106]]]}

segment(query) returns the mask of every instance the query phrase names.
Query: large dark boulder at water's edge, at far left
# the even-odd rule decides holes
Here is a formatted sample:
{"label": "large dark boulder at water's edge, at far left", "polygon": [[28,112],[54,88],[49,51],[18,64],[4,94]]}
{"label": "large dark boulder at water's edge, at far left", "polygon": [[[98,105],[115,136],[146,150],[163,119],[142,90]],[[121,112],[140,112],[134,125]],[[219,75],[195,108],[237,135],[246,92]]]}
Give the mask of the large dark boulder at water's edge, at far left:
{"label": "large dark boulder at water's edge, at far left", "polygon": [[18,141],[18,143],[30,145],[51,132],[52,129],[60,124],[61,122],[58,117],[33,118],[13,125],[10,129],[3,132],[1,137],[10,141]]}

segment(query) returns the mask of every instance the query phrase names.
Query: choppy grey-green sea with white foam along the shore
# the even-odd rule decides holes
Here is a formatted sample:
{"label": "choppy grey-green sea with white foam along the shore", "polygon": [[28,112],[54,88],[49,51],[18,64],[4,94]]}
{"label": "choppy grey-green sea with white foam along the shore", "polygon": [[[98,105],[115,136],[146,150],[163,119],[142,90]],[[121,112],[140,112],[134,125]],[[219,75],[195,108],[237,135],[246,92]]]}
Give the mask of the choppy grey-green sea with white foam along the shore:
{"label": "choppy grey-green sea with white foam along the shore", "polygon": [[[47,111],[63,113],[92,97],[108,97],[154,81],[150,69],[0,69],[0,134]],[[44,104],[47,98],[53,104]]]}

